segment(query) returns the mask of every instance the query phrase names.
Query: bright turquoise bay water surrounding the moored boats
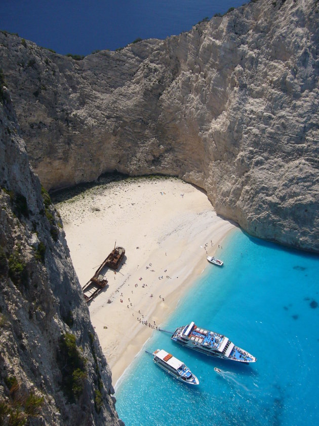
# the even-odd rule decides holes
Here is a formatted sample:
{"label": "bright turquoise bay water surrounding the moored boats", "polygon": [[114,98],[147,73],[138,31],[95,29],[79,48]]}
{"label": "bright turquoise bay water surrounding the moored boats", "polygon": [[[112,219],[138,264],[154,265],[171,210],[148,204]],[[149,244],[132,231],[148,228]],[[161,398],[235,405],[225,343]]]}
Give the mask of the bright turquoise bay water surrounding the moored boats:
{"label": "bright turquoise bay water surrounding the moored boats", "polygon": [[318,424],[319,257],[237,229],[222,246],[217,257],[224,266],[208,265],[162,327],[194,321],[225,334],[257,362],[209,358],[154,332],[145,349],[173,353],[200,385],[173,379],[141,352],[115,394],[128,426]]}

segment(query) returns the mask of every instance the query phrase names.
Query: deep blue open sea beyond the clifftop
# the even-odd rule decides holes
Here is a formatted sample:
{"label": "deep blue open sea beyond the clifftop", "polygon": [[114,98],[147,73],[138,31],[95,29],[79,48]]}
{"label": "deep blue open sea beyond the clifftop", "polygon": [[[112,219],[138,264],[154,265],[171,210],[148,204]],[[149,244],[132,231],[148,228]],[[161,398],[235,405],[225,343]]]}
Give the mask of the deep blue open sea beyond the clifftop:
{"label": "deep blue open sea beyond the clifftop", "polygon": [[249,0],[2,0],[0,29],[58,53],[88,55],[165,39]]}

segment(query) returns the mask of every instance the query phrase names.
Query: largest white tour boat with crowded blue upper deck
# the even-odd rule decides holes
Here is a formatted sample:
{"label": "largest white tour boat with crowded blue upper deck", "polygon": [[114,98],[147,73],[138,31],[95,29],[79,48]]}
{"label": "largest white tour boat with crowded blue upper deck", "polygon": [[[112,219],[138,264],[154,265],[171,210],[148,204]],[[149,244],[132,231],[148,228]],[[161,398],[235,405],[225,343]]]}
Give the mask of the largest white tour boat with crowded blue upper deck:
{"label": "largest white tour boat with crowded blue upper deck", "polygon": [[242,363],[254,363],[257,361],[249,352],[235,346],[228,337],[197,327],[193,322],[187,326],[178,327],[171,339],[185,347],[206,353],[211,357]]}

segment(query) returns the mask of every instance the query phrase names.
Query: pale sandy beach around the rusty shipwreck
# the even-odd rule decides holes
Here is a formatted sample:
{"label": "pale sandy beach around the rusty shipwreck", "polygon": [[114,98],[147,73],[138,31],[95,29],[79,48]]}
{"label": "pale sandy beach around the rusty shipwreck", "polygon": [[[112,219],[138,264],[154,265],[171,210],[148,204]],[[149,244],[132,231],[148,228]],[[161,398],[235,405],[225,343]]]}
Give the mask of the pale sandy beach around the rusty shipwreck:
{"label": "pale sandy beach around the rusty shipwreck", "polygon": [[81,286],[115,241],[125,247],[124,264],[107,272],[109,287],[89,305],[115,383],[234,225],[216,216],[206,194],[174,178],[93,187],[56,207]]}

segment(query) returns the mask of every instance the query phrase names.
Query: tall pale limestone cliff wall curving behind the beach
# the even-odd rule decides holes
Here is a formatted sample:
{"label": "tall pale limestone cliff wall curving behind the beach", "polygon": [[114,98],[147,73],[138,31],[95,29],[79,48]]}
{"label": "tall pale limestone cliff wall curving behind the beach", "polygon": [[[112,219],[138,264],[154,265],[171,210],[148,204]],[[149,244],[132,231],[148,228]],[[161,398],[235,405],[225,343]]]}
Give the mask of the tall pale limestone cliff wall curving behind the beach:
{"label": "tall pale limestone cliff wall curving behind the beach", "polygon": [[0,34],[47,189],[118,170],[178,175],[250,234],[319,251],[315,0],[263,0],[165,41],[74,61]]}

